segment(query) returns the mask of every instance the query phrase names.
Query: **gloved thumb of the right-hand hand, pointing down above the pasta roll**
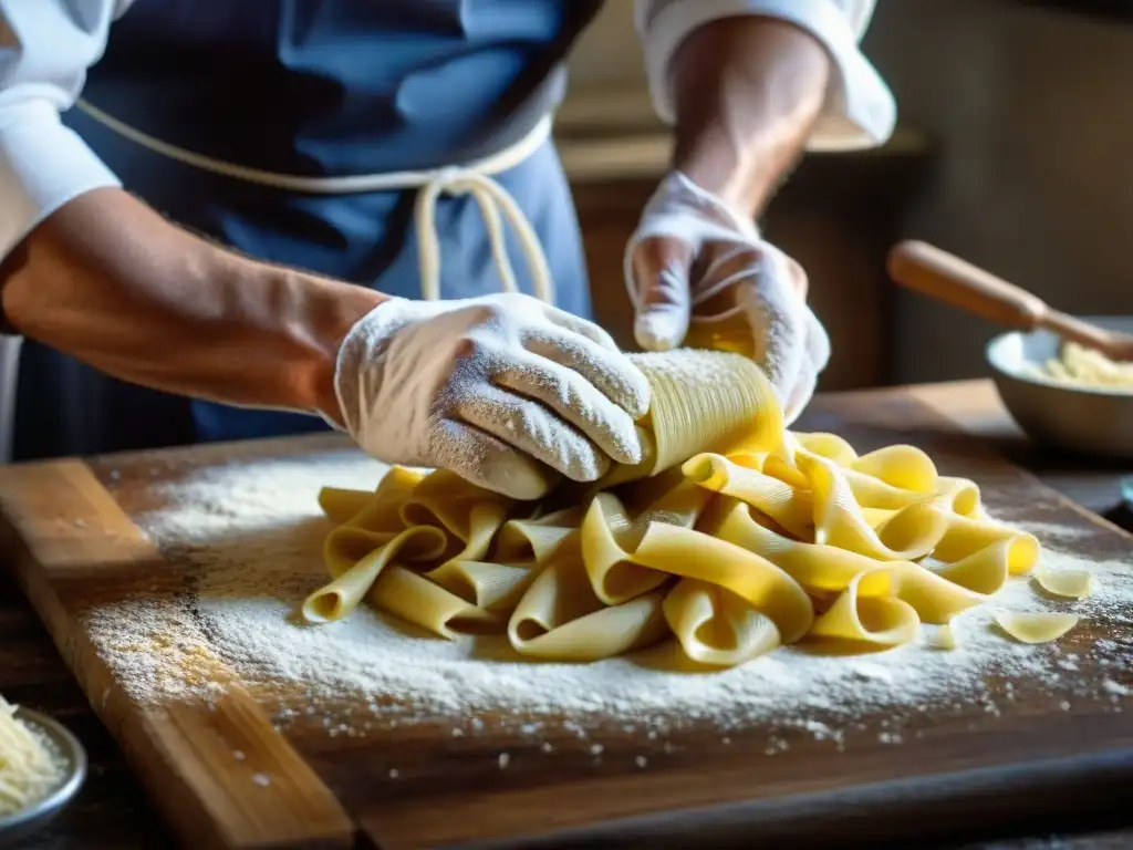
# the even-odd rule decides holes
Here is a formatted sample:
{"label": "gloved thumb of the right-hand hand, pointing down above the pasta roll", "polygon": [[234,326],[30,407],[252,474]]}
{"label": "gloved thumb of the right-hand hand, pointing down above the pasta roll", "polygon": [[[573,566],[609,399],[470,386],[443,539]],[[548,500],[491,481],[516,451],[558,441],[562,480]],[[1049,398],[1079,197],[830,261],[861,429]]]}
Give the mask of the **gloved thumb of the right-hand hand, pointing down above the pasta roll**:
{"label": "gloved thumb of the right-hand hand, pointing down above the pasta roll", "polygon": [[633,337],[646,351],[667,351],[684,341],[691,311],[692,249],[671,237],[647,237],[632,248],[629,273],[637,292]]}

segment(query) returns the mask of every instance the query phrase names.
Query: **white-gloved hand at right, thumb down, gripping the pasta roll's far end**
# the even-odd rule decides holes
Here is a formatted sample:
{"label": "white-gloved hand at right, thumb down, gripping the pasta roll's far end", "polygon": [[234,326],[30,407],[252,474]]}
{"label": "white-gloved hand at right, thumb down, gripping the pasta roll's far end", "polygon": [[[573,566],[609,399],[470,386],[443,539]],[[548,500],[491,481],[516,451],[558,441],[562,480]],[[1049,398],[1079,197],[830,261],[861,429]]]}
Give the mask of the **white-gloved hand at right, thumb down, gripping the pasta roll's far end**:
{"label": "white-gloved hand at right, thumb down, gripping the pasta roll's far end", "polygon": [[668,175],[646,205],[625,249],[625,283],[642,348],[676,348],[690,321],[739,313],[786,423],[810,401],[830,342],[807,306],[806,272],[764,241],[750,220],[684,175]]}

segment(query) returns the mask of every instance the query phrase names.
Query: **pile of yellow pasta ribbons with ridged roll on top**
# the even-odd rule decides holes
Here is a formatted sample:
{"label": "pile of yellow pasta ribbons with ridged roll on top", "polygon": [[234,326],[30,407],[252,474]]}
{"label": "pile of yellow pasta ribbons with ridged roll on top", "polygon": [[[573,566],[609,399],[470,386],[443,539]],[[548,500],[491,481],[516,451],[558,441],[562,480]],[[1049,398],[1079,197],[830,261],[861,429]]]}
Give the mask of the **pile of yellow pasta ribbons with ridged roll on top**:
{"label": "pile of yellow pasta ribbons with ridged roll on top", "polygon": [[[897,646],[1038,564],[1033,536],[990,519],[976,484],[919,449],[859,456],[833,434],[786,431],[747,358],[637,358],[654,388],[647,458],[588,492],[516,502],[401,467],[375,492],[324,488],[332,580],[304,617],[338,620],[365,600],[442,637],[506,632],[519,654],[557,661],[673,636],[692,662],[722,668],[803,639]],[[1037,578],[1089,593],[1084,572]],[[997,619],[1029,643],[1076,621]]]}

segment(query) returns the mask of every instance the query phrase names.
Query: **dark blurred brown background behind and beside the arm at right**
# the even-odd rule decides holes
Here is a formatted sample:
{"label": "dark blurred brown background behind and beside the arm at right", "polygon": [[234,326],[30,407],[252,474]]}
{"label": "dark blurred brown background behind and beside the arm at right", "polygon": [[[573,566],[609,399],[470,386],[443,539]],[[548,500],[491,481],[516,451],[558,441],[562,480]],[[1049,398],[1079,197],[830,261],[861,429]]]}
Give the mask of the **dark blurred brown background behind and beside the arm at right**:
{"label": "dark blurred brown background behind and beside the arm at right", "polygon": [[[903,237],[1070,312],[1133,314],[1133,0],[879,0],[864,50],[897,97],[893,142],[809,156],[764,222],[811,274],[824,389],[987,374],[995,329],[887,282]],[[629,345],[621,247],[667,154],[629,0],[572,66],[559,137],[599,318]]]}

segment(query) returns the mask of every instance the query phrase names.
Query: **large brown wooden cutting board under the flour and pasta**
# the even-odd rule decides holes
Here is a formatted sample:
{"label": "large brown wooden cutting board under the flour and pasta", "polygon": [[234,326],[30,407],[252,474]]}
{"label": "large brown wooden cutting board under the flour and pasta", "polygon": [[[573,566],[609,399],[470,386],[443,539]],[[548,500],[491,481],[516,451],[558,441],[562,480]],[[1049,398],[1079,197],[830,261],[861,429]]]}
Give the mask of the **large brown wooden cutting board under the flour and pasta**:
{"label": "large brown wooden cutting board under the flour and pasta", "polygon": [[[1074,526],[1063,549],[1133,563],[1133,537],[999,459],[912,392],[819,399],[800,427],[837,432],[860,451],[917,444],[943,471],[974,478],[993,509],[1011,504],[1016,517]],[[143,587],[185,592],[187,568],[163,559],[131,518],[155,481],[176,484],[233,461],[301,460],[342,444],[297,437],[0,470],[0,551],[188,847],[877,847],[1007,823],[1038,832],[1068,813],[1121,807],[1133,793],[1133,712],[1115,707],[1104,687],[1133,686],[1131,674],[1084,652],[1100,638],[1133,640],[1133,611],[1094,618],[1063,639],[1083,648],[1068,711],[1037,682],[989,681],[998,714],[980,704],[925,706],[901,719],[901,746],[879,737],[892,712],[862,716],[860,734],[837,748],[800,736],[774,757],[765,753],[767,729],[722,740],[689,723],[663,747],[644,734],[620,739],[611,719],[606,757],[595,759],[570,741],[556,741],[547,758],[537,741],[491,731],[491,722],[459,739],[436,724],[361,738],[320,724],[284,733],[269,719],[270,699],[231,682],[207,698],[131,700],[95,652],[84,612]],[[404,768],[398,779],[391,764]]]}

